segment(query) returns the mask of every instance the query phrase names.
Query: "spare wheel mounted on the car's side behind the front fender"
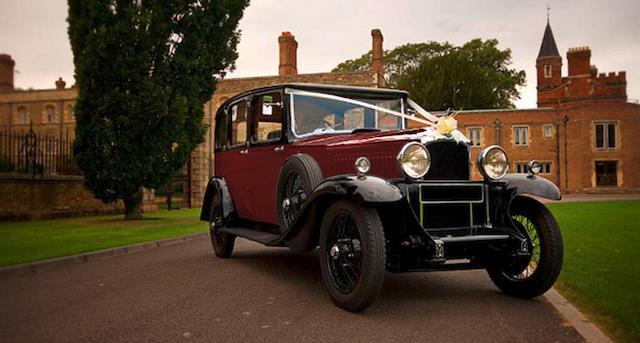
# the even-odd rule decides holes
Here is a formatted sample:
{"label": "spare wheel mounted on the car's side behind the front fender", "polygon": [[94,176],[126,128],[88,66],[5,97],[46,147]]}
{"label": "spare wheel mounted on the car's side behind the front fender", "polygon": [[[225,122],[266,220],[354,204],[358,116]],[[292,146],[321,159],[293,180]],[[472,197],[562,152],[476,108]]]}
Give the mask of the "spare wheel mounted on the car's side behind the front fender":
{"label": "spare wheel mounted on the car's side behind the front fender", "polygon": [[280,169],[276,201],[280,229],[286,230],[294,221],[300,207],[322,182],[322,171],[313,157],[296,154]]}

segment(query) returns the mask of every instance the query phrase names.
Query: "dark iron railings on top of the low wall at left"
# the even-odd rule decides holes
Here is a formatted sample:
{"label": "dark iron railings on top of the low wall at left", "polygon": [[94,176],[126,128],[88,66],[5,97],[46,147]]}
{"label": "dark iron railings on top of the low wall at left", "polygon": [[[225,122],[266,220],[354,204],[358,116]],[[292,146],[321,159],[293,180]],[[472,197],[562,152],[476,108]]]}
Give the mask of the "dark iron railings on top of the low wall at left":
{"label": "dark iron railings on top of the low wall at left", "polygon": [[73,161],[73,141],[27,132],[0,129],[0,173],[81,175]]}

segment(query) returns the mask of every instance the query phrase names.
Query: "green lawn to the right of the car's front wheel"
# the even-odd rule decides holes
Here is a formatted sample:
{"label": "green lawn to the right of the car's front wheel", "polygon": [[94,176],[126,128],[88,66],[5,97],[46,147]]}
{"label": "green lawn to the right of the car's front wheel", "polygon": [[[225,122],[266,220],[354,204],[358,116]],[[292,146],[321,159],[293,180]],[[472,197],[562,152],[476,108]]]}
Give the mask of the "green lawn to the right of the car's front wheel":
{"label": "green lawn to the right of the car's front wheel", "polygon": [[640,201],[555,203],[565,259],[555,287],[621,342],[640,341]]}

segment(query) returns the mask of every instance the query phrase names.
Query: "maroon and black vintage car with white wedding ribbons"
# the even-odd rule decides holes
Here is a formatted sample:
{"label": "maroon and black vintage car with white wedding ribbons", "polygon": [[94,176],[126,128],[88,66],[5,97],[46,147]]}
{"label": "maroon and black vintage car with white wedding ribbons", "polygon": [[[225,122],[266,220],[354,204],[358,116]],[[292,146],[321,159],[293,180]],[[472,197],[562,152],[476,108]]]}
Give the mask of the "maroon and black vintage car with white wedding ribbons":
{"label": "maroon and black vintage car with white wedding ribbons", "polygon": [[[508,174],[499,146],[479,153],[453,115],[433,115],[401,90],[281,84],[224,102],[215,121],[215,176],[200,219],[215,254],[237,237],[306,252],[319,246],[334,303],[360,311],[385,272],[486,269],[504,293],[546,292],[563,259],[560,199],[536,176]],[[295,275],[291,275],[295,278]]]}

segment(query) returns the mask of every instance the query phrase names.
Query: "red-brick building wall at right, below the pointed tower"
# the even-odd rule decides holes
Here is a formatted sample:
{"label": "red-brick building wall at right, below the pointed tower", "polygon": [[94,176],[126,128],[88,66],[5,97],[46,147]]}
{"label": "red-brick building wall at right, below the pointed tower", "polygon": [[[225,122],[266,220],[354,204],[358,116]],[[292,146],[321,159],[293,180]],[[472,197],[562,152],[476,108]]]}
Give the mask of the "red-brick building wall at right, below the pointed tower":
{"label": "red-brick building wall at right, below the pointed tower", "polygon": [[[568,118],[565,131],[565,116]],[[463,111],[459,128],[481,128],[481,147],[471,148],[474,179],[481,178],[475,161],[482,148],[499,144],[507,151],[511,165],[536,159],[551,164],[543,174],[565,192],[640,191],[640,105],[592,102],[584,106],[532,110]],[[496,122],[499,122],[499,129]],[[597,149],[595,123],[616,124],[616,147]],[[545,137],[544,127],[550,126]],[[527,144],[515,144],[514,127],[527,127]],[[596,161],[617,161],[617,186],[596,185]]]}

